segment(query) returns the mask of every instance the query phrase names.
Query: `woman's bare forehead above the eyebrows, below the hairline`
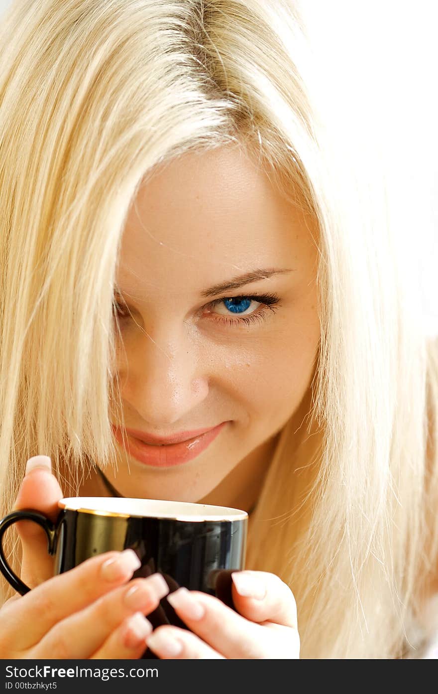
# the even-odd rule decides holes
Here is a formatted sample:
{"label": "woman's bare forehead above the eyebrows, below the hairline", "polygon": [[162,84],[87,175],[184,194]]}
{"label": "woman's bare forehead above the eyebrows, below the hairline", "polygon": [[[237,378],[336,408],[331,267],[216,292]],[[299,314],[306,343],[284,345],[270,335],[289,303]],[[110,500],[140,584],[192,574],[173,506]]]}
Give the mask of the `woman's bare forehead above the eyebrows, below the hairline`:
{"label": "woman's bare forehead above the eyebrows, below the hairline", "polygon": [[186,153],[139,188],[117,282],[139,299],[155,287],[196,294],[239,272],[293,262],[310,238],[303,212],[243,149]]}

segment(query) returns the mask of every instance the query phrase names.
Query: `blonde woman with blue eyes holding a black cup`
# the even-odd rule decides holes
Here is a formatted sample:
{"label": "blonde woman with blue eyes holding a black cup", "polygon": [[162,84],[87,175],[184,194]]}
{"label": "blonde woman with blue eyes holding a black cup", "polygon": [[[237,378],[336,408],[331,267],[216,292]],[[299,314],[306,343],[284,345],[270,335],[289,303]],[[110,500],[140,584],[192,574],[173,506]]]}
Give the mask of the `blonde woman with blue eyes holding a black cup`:
{"label": "blonde woman with blue eyes holding a black cup", "polygon": [[[249,512],[238,613],[173,596],[193,633],[150,634],[165,591],[129,582],[129,551],[51,577],[21,522],[33,591],[5,586],[2,657],[422,657],[438,346],[401,189],[295,3],[28,1],[1,31],[1,515],[76,494]],[[175,448],[138,438],[222,423],[166,468]]]}

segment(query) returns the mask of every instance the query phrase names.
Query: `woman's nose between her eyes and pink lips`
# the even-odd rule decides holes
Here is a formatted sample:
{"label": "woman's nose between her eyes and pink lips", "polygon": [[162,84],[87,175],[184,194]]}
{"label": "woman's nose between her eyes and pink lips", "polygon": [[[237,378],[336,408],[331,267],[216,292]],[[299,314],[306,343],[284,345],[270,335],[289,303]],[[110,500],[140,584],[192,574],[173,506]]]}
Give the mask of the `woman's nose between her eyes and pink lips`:
{"label": "woman's nose between her eyes and pink lips", "polygon": [[125,419],[133,427],[166,433],[209,423],[199,417],[209,391],[200,347],[186,325],[177,332],[125,341],[118,371]]}

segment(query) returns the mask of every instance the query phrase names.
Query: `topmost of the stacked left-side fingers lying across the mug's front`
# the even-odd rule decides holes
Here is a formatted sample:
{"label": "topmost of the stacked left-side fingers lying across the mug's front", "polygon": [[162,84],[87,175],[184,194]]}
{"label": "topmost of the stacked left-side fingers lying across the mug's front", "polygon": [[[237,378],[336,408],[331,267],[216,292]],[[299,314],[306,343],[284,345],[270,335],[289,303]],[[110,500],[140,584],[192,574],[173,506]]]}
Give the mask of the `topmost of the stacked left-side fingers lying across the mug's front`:
{"label": "topmost of the stacked left-side fingers lying across the mug's front", "polygon": [[6,605],[4,632],[11,641],[30,648],[60,620],[125,584],[139,564],[133,550],[105,552],[83,561]]}

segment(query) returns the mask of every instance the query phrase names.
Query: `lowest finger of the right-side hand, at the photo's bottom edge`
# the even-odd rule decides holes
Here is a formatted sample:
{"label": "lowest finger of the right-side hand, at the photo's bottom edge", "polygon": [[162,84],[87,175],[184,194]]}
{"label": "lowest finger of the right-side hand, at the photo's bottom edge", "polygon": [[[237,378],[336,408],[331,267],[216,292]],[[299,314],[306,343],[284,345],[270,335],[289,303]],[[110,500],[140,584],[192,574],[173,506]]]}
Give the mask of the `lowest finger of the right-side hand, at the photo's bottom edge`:
{"label": "lowest finger of the right-side hand, at the photo's bottom edge", "polygon": [[178,627],[157,627],[146,643],[150,650],[164,660],[168,659],[224,659],[224,656],[192,632]]}

